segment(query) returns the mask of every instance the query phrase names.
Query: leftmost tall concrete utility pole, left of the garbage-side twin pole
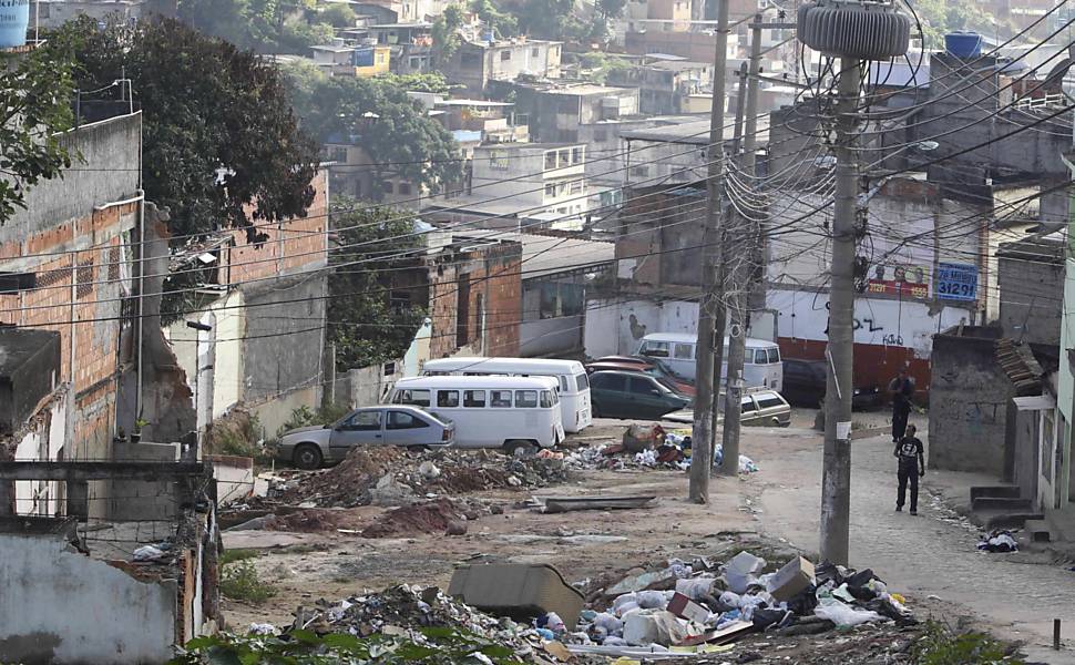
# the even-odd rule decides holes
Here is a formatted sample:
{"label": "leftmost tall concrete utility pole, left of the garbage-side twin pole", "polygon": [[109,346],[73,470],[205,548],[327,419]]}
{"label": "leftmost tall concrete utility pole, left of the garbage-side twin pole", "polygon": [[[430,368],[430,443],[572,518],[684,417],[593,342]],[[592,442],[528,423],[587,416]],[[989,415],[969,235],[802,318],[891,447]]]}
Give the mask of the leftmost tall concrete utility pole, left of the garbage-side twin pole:
{"label": "leftmost tall concrete utility pole, left of the garbage-side twin pole", "polygon": [[[717,270],[723,254],[720,239],[724,214],[724,105],[728,66],[728,3],[717,3],[716,53],[713,59],[713,106],[709,111],[709,162],[706,180],[706,226],[702,242],[702,280],[705,295],[698,304],[698,344],[695,351],[695,411],[690,440],[689,499],[709,502],[709,473],[713,469],[710,441],[714,432],[714,347],[724,346],[724,330],[714,331],[714,320],[723,308],[724,280]],[[723,327],[721,327],[723,328]],[[717,371],[719,372],[719,365]],[[719,377],[719,374],[717,375]],[[718,379],[719,382],[719,379]]]}

